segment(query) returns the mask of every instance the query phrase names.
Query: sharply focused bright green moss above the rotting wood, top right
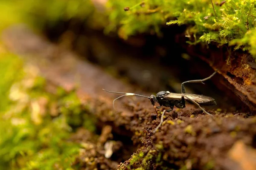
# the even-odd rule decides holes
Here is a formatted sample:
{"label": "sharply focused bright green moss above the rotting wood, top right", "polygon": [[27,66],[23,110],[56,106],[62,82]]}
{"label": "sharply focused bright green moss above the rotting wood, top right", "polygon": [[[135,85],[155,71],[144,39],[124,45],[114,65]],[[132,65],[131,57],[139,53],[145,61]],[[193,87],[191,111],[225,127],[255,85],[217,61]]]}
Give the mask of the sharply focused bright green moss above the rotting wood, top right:
{"label": "sharply focused bright green moss above the rotting wood, top right", "polygon": [[217,0],[214,2],[215,4],[211,4],[209,0],[184,0],[182,4],[173,4],[173,9],[177,9],[174,12],[177,20],[166,24],[194,25],[189,26],[186,31],[189,43],[236,45],[235,49],[249,50],[256,57],[253,45],[256,43],[256,1],[227,0],[222,5]]}

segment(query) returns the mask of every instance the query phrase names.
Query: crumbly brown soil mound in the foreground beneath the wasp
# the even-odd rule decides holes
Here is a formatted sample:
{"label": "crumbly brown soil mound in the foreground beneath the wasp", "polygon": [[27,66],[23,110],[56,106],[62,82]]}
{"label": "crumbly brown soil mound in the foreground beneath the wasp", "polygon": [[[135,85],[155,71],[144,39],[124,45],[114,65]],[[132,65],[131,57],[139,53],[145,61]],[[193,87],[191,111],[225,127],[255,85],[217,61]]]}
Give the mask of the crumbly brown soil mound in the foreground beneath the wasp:
{"label": "crumbly brown soil mound in the foreground beneath the wasp", "polygon": [[152,130],[159,119],[147,125],[143,135],[133,137],[142,144],[135,156],[141,154],[142,158],[136,160],[134,165],[135,156],[132,156],[121,163],[119,169],[132,169],[137,164],[144,169],[232,169],[234,165],[237,165],[236,169],[242,169],[243,164],[232,159],[229,150],[241,141],[254,150],[247,154],[255,152],[255,117],[246,118],[246,113],[218,113],[213,117],[187,113],[189,111],[186,114],[177,113],[179,116],[175,119],[171,116],[173,113],[166,115],[155,134]]}

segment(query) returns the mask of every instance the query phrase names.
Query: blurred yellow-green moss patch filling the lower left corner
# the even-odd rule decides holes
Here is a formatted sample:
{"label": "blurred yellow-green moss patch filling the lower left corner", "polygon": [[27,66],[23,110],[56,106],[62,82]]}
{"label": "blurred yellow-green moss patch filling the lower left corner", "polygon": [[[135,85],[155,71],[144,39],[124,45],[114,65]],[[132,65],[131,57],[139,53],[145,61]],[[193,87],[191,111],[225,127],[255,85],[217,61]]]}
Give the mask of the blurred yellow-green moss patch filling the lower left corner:
{"label": "blurred yellow-green moss patch filling the lower left corner", "polygon": [[84,113],[75,93],[49,94],[37,68],[9,53],[0,54],[0,75],[0,169],[71,168],[80,146],[67,140],[70,119]]}

